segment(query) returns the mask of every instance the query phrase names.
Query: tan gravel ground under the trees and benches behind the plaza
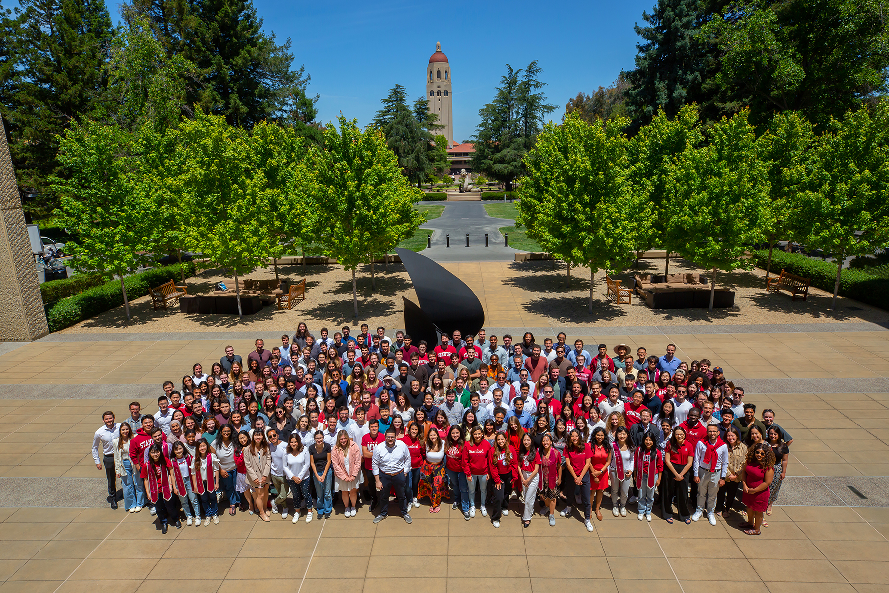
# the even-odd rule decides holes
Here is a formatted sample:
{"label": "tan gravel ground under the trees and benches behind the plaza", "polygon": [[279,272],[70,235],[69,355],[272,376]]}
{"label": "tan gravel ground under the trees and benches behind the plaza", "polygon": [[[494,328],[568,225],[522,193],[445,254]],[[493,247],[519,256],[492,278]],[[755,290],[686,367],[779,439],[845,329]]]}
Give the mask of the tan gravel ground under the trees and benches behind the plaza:
{"label": "tan gravel ground under the trees and benches behind the plaza", "polygon": [[[445,268],[456,273],[458,264],[444,264]],[[466,266],[467,264],[460,264]],[[486,294],[512,293],[518,311],[509,314],[486,311],[486,323],[492,326],[513,326],[514,323],[499,322],[498,317],[515,316],[516,313],[527,319],[527,326],[560,325],[570,328],[573,325],[711,325],[728,324],[776,324],[776,323],[836,323],[840,321],[889,322],[889,312],[876,309],[858,301],[840,298],[837,310],[830,311],[830,293],[817,288],[809,289],[807,301],[790,301],[787,293],[765,292],[764,270],[746,272],[738,270],[732,274],[719,273],[717,287],[731,287],[735,290],[735,309],[664,309],[653,310],[645,306],[634,295],[632,305],[615,305],[605,298],[605,273],[596,276],[594,287],[594,313],[588,312],[589,270],[574,268],[571,287],[565,287],[565,265],[552,269],[549,261],[527,261],[508,264],[478,264],[483,266]],[[488,267],[488,268],[485,268]],[[642,260],[639,269],[643,272],[663,271],[663,260]],[[684,260],[671,260],[671,273],[705,270],[695,268]],[[779,270],[780,271],[780,270]],[[127,322],[124,308],[112,309],[77,325],[62,330],[63,333],[96,332],[199,332],[203,330],[259,330],[280,331],[282,327],[292,328],[302,320],[309,325],[342,325],[355,323],[352,317],[351,273],[339,266],[308,266],[303,273],[300,266],[279,266],[282,278],[299,280],[306,277],[306,300],[296,309],[276,311],[274,306],[266,307],[256,315],[237,317],[224,315],[185,315],[177,305],[170,309],[151,309],[151,301],[143,297],[132,301],[132,320]],[[274,277],[272,268],[257,269],[248,275],[251,278]],[[632,285],[631,274],[617,276],[624,279],[625,285]],[[372,319],[373,323],[386,327],[404,325],[404,305],[401,297],[416,301],[410,278],[401,264],[389,265],[388,273],[377,265],[377,287],[372,289],[370,268],[357,271],[358,312],[362,320]],[[223,276],[221,270],[204,270],[188,279],[189,293],[212,292],[214,284],[225,281],[233,284],[231,276]],[[477,281],[476,281],[477,283]],[[469,283],[473,284],[473,283]],[[857,308],[850,309],[850,308]]]}

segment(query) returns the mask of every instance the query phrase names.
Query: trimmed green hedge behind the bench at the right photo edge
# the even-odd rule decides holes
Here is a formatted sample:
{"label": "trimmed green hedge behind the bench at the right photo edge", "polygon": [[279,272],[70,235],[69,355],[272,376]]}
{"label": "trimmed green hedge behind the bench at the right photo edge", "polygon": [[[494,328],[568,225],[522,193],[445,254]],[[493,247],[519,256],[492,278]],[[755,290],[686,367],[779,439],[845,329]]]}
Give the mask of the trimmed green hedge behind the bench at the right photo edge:
{"label": "trimmed green hedge behind the bench at the right photo edge", "polygon": [[[757,266],[765,269],[769,259],[767,249],[753,252]],[[812,278],[812,285],[833,294],[837,282],[837,264],[832,261],[812,260],[801,253],[772,252],[772,273],[781,269],[791,274]],[[889,278],[869,274],[867,269],[844,269],[839,278],[839,294],[889,310]]]}

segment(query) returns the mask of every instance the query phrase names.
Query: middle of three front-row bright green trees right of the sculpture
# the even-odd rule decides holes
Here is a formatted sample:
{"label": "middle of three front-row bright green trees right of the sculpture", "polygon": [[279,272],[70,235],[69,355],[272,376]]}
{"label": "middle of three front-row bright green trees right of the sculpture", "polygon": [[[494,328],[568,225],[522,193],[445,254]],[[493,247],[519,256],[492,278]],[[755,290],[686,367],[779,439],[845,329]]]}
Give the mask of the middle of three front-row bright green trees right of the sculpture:
{"label": "middle of three front-row bright green trees right of the sculpture", "polygon": [[717,269],[751,269],[744,257],[763,238],[760,220],[768,208],[767,168],[745,109],[723,117],[710,130],[709,145],[688,148],[672,171],[667,232],[686,260],[712,268],[710,306]]}

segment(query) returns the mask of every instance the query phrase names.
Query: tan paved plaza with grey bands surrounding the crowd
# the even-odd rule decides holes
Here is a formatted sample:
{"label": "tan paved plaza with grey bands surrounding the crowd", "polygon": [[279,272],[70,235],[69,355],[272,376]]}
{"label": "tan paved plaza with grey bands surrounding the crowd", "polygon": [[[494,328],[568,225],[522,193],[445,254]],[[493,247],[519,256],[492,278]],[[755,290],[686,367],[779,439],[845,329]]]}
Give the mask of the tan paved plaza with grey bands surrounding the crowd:
{"label": "tan paved plaza with grey bands surrounding the crowd", "polygon": [[[539,341],[558,331],[530,329]],[[464,521],[450,505],[430,515],[424,503],[412,525],[395,516],[373,525],[364,506],[345,518],[338,504],[330,519],[309,525],[223,514],[220,525],[164,535],[147,509],[108,509],[90,453],[100,413],[111,409],[121,420],[132,399],[152,413],[162,381],[178,385],[193,363],[218,360],[227,344],[246,355],[254,338],[270,347],[280,333],[61,333],[0,344],[0,593],[145,593],[170,590],[173,579],[178,589],[241,591],[249,581],[267,587],[268,577],[287,579],[294,591],[325,581],[342,591],[466,591],[494,582],[515,591],[889,588],[889,331],[866,323],[569,333],[569,343],[623,342],[657,354],[676,343],[677,357],[709,357],[748,390],[745,401],[774,409],[794,443],[789,477],[759,537],[741,533],[736,516],[715,527],[668,525],[659,511],[651,524],[633,513],[614,518],[610,501],[594,533],[576,519],[551,528],[541,517],[522,529],[514,514],[494,529],[485,518]],[[726,581],[713,582],[713,573]]]}

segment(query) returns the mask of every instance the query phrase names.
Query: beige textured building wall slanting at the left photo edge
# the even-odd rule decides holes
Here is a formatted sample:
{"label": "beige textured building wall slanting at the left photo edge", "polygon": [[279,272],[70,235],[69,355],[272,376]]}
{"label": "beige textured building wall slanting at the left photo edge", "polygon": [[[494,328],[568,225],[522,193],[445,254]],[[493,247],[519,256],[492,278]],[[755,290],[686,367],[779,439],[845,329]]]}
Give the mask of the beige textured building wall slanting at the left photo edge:
{"label": "beige textured building wall slanting at the left photo edge", "polygon": [[0,118],[0,341],[30,341],[50,333],[19,187]]}

